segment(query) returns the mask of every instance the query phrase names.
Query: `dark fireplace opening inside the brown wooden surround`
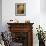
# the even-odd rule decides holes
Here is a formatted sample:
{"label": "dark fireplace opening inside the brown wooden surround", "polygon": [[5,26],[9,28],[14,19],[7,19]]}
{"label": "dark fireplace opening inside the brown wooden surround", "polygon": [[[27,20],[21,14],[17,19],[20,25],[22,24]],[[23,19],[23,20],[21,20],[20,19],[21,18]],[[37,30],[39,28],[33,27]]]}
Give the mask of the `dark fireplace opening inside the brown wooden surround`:
{"label": "dark fireplace opening inside the brown wooden surround", "polygon": [[28,46],[28,32],[12,32],[12,39],[15,43],[22,43],[23,46]]}

